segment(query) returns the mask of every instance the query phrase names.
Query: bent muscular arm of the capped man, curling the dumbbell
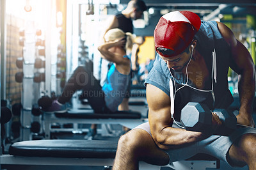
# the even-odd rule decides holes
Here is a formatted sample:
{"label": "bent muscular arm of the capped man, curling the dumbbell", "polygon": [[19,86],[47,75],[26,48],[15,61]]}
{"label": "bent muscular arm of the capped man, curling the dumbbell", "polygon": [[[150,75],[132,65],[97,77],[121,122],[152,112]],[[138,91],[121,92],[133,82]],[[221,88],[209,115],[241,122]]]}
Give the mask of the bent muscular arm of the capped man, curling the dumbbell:
{"label": "bent muscular arm of the capped man, curling the dumbbell", "polygon": [[201,132],[172,128],[170,98],[161,89],[147,84],[147,102],[150,130],[159,148],[180,148],[204,139]]}

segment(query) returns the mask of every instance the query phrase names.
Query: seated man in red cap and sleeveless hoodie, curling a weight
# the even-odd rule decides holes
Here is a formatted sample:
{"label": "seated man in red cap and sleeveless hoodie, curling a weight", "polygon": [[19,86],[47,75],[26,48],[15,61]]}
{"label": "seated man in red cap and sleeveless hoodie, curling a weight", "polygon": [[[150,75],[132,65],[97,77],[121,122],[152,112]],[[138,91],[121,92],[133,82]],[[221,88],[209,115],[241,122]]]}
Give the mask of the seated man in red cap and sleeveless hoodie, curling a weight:
{"label": "seated man in red cap and sleeveless hoodie, curling a weight", "polygon": [[[138,169],[138,162],[166,165],[207,153],[230,166],[256,169],[256,129],[252,118],[255,70],[250,53],[227,26],[201,21],[192,12],[163,15],[154,31],[157,51],[145,81],[148,123],[120,137],[113,169]],[[245,125],[231,135],[185,130],[180,111],[188,102],[209,109],[228,109],[233,102],[227,73],[239,74],[241,101],[237,123]],[[221,125],[212,114],[212,129]],[[214,131],[214,130],[212,130]]]}

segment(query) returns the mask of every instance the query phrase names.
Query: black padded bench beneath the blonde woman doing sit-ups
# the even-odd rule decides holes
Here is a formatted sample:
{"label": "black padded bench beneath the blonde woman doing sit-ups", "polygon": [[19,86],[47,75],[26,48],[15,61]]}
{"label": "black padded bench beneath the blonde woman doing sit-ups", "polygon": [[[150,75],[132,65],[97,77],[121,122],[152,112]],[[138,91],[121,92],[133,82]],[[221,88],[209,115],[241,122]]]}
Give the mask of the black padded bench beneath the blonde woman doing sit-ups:
{"label": "black padded bench beneath the blonde woman doing sit-ups", "polygon": [[[94,113],[92,109],[73,109],[64,113],[44,112],[43,120],[45,139],[50,139],[50,134],[53,131],[53,128],[51,128],[52,123],[118,124],[134,128],[148,121],[146,118],[141,118],[140,112],[117,111],[112,114],[98,114]],[[58,129],[55,128],[54,130]],[[102,131],[104,131],[102,134],[109,134],[106,128],[102,128]]]}

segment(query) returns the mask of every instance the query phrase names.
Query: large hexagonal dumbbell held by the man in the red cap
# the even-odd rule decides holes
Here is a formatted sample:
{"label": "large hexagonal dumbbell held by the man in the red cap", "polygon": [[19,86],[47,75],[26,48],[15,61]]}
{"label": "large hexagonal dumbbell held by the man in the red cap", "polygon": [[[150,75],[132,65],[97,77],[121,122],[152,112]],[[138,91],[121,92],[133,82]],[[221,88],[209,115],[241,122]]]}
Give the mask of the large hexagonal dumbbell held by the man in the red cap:
{"label": "large hexagonal dumbbell held by the man in the red cap", "polygon": [[[236,129],[236,116],[225,109],[214,109],[222,125],[215,130],[215,135],[230,135]],[[180,113],[180,123],[186,128],[195,132],[211,133],[212,112],[207,105],[196,102],[189,102]]]}

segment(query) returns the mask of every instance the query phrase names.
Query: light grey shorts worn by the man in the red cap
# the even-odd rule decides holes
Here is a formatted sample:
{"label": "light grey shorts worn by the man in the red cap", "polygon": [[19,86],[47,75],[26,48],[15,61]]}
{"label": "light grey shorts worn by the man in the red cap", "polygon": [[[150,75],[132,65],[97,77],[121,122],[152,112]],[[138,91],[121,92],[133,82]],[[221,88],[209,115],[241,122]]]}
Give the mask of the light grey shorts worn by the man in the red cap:
{"label": "light grey shorts worn by the man in the red cap", "polygon": [[[173,123],[174,128],[179,128],[175,123]],[[151,134],[149,123],[143,123],[138,127],[133,129],[140,128]],[[163,150],[169,155],[170,161],[169,164],[178,160],[186,160],[187,158],[196,155],[197,153],[206,153],[212,155],[224,162],[227,162],[227,153],[230,146],[236,141],[237,137],[240,137],[244,134],[256,134],[256,128],[252,127],[239,127],[237,128],[231,135],[222,136],[222,135],[211,135],[207,139],[202,141],[198,141],[190,146],[186,146],[184,148],[179,148],[175,150]]]}

